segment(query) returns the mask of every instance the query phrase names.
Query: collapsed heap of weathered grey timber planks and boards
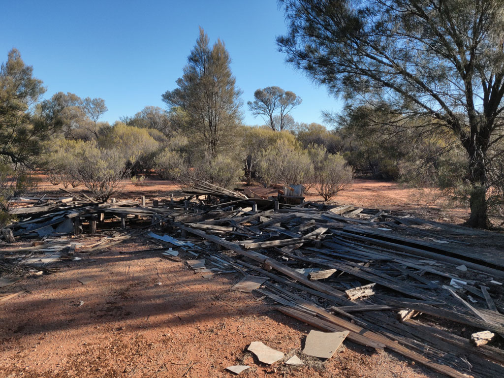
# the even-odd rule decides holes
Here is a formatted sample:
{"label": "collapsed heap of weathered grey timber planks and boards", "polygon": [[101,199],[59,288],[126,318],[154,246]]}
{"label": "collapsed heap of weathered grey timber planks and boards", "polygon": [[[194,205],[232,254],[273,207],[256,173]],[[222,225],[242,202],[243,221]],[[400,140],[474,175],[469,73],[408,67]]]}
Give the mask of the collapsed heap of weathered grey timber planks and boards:
{"label": "collapsed heap of weathered grey timber planks and boards", "polygon": [[213,272],[268,278],[257,291],[313,327],[348,330],[356,344],[447,376],[504,376],[504,259],[473,245],[483,231],[351,205],[282,205],[207,183],[149,205],[74,195],[26,209],[10,226],[17,237],[87,227],[93,237],[124,229],[108,243],[154,236]]}

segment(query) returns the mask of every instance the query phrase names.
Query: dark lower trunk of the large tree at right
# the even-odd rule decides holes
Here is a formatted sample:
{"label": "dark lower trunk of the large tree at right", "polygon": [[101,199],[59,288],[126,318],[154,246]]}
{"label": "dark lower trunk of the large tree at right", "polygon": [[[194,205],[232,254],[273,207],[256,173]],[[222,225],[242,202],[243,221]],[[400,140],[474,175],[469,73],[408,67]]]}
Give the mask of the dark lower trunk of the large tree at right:
{"label": "dark lower trunk of the large tree at right", "polygon": [[487,228],[489,222],[486,201],[486,166],[483,154],[470,154],[469,171],[471,215],[467,223],[474,228]]}

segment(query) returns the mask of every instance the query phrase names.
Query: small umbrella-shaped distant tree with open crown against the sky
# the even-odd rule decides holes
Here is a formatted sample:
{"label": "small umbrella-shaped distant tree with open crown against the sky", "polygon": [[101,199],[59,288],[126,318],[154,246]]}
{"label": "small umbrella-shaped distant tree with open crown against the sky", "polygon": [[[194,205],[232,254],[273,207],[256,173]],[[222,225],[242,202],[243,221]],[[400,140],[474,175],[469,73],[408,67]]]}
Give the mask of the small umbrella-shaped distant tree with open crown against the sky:
{"label": "small umbrella-shaped distant tree with open crown against the sky", "polygon": [[301,104],[302,99],[294,92],[280,87],[266,87],[254,92],[254,102],[248,101],[248,109],[254,116],[261,115],[273,131],[291,129],[294,119],[289,114]]}

